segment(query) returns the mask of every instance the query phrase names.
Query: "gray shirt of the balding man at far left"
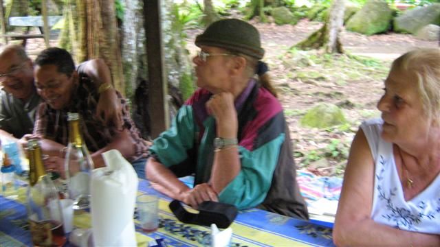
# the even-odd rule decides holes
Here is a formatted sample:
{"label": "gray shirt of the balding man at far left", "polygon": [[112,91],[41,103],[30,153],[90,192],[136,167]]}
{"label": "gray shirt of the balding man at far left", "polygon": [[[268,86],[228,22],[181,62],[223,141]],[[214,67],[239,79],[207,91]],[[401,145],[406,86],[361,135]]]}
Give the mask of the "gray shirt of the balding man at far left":
{"label": "gray shirt of the balding man at far left", "polygon": [[36,108],[40,101],[36,91],[27,102],[23,102],[10,93],[0,90],[0,129],[13,134],[16,138],[32,133]]}

